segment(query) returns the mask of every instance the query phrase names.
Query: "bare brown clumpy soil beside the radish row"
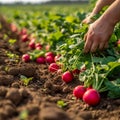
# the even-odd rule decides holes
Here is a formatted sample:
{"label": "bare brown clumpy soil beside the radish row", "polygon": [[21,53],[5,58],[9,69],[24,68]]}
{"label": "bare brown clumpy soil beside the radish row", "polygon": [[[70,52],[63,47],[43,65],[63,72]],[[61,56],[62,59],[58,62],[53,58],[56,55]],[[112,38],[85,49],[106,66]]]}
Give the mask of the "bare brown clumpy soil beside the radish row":
{"label": "bare brown clumpy soil beside the radish row", "polygon": [[[0,18],[0,120],[119,120],[120,99],[101,94],[97,106],[88,106],[73,97],[72,90],[81,84],[77,77],[69,84],[61,74],[50,73],[48,64],[24,63],[21,56],[30,51],[27,42],[10,31],[10,25]],[[8,37],[5,37],[5,34]],[[14,45],[9,39],[17,39]],[[11,58],[7,52],[16,54]],[[32,77],[24,85],[21,75]],[[66,105],[60,107],[57,101]]]}

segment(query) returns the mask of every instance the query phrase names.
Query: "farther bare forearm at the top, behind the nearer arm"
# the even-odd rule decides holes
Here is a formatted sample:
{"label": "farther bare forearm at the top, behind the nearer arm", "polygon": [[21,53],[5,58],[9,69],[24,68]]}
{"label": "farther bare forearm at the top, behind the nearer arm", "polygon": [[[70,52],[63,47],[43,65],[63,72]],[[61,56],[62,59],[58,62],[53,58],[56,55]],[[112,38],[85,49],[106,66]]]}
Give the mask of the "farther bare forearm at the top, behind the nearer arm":
{"label": "farther bare forearm at the top, behind the nearer arm", "polygon": [[111,5],[114,1],[115,0],[98,0],[91,13],[91,16],[98,14],[104,6]]}

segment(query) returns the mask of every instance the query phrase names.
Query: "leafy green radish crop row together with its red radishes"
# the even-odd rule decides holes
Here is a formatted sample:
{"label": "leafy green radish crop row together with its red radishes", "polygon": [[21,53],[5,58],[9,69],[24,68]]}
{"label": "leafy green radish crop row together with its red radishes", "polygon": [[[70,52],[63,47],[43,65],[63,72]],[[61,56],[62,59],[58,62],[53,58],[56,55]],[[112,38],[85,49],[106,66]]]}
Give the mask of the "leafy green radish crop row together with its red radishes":
{"label": "leafy green radish crop row together with its red radishes", "polygon": [[[81,93],[81,87],[78,86],[73,90],[74,96],[83,99],[89,105],[96,105],[100,102],[101,92],[107,91],[108,97],[111,98],[120,97],[118,94],[120,91],[120,24],[116,25],[106,50],[84,54],[83,38],[89,25],[81,23],[83,15],[85,14],[65,15],[48,12],[39,20],[35,20],[36,15],[33,13],[34,20],[19,18],[18,15],[15,18],[19,18],[18,26],[27,27],[28,30],[21,28],[19,32],[19,27],[14,24],[11,25],[11,30],[17,32],[20,40],[27,43],[31,49],[22,56],[24,62],[35,61],[38,64],[48,64],[49,71],[61,73],[65,83],[71,82],[74,76],[78,76],[84,84],[82,86],[84,90],[82,88]],[[90,97],[86,97],[86,94]],[[88,102],[88,98],[96,101],[93,101],[93,104],[92,100]]]}

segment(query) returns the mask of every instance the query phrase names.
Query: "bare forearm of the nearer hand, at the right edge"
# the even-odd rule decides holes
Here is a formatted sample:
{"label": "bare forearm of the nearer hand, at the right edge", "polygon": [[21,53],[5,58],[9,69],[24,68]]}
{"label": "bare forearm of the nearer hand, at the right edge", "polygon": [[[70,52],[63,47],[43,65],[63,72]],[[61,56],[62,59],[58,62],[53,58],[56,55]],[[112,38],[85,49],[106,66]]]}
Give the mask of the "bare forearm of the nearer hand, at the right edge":
{"label": "bare forearm of the nearer hand, at the right edge", "polygon": [[100,17],[102,21],[107,21],[110,25],[115,26],[120,21],[120,0],[116,0]]}

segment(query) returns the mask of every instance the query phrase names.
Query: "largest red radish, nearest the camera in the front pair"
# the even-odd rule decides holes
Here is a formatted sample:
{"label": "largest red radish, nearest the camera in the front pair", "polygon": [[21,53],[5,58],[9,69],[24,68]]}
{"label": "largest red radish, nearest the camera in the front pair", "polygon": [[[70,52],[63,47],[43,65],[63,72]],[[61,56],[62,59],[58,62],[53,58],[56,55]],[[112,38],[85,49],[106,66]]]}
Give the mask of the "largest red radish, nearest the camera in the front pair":
{"label": "largest red radish, nearest the camera in the front pair", "polygon": [[95,106],[100,102],[100,94],[95,89],[89,89],[84,93],[83,101],[88,105]]}

